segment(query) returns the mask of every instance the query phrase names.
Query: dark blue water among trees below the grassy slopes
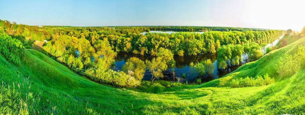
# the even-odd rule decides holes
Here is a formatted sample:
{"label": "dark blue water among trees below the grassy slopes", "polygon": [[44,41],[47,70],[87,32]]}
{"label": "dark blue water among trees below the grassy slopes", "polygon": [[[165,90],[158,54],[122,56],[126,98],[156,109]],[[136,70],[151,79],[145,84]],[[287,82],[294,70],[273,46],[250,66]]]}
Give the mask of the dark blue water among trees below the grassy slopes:
{"label": "dark blue water among trees below the grassy slopes", "polygon": [[[152,32],[152,31],[151,31]],[[281,36],[279,39],[275,40],[271,44],[266,45],[267,46],[273,46],[275,45],[283,36]],[[263,48],[262,52],[263,52]],[[121,71],[122,66],[126,63],[126,60],[131,57],[138,57],[139,59],[143,60],[151,60],[155,56],[151,56],[149,54],[146,55],[139,55],[139,54],[133,54],[133,53],[124,53],[124,52],[117,52],[117,57],[115,58],[115,66],[111,67],[111,69],[115,71]],[[244,55],[242,56],[244,57]],[[206,59],[211,59],[212,62],[214,62],[214,71],[213,75],[206,75],[198,77],[198,74],[194,72],[193,68],[190,68],[189,65],[191,62],[198,63],[202,62]],[[200,54],[200,55],[185,55],[185,56],[174,56],[174,60],[176,61],[176,68],[175,68],[175,82],[181,82],[185,83],[188,81],[188,83],[196,82],[197,78],[201,78],[203,82],[208,82],[213,79],[217,79],[220,77],[223,77],[236,69],[238,69],[243,64],[247,63],[245,60],[242,61],[240,65],[229,67],[228,69],[218,69],[217,67],[217,53],[206,53],[206,54]],[[185,74],[186,77],[182,77],[182,75]],[[171,72],[171,68],[168,68],[166,71],[164,71],[164,78],[162,80],[172,81],[173,73]],[[143,80],[151,80],[151,73],[146,70]]]}

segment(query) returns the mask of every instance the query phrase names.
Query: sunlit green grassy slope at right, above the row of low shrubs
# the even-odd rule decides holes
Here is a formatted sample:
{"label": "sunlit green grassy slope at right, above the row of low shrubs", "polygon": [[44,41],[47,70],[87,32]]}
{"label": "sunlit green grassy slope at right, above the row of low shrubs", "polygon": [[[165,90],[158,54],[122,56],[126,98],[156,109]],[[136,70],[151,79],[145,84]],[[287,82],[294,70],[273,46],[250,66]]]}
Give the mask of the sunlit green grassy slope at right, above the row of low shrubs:
{"label": "sunlit green grassy slope at right, above the row of low shrubs", "polygon": [[234,72],[220,79],[215,79],[208,83],[204,83],[199,87],[210,87],[210,86],[217,87],[234,78],[238,79],[238,78],[245,78],[247,76],[249,77],[263,76],[266,73],[268,73],[269,76],[274,77],[275,81],[278,82],[282,79],[278,76],[278,73],[276,73],[277,70],[275,65],[278,63],[280,57],[284,57],[285,54],[288,55],[295,54],[298,51],[298,47],[300,45],[305,46],[305,38],[302,38],[297,42],[293,42],[290,45],[285,46],[283,48],[271,51],[268,54],[264,55],[259,60],[246,63],[245,65],[236,69]]}

